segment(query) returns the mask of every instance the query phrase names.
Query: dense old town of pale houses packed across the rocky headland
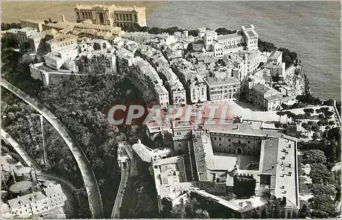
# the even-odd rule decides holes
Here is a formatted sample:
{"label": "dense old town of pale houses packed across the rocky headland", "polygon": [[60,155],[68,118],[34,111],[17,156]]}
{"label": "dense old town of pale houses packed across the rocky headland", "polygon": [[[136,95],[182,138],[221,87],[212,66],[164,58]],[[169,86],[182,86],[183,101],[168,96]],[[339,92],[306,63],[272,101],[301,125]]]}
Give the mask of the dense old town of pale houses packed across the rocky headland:
{"label": "dense old town of pale houses packed across the rocky headland", "polygon": [[129,75],[162,108],[244,97],[262,110],[277,110],[298,95],[287,86],[287,76],[296,68],[285,69],[281,51],[261,53],[253,25],[227,35],[201,27],[197,37],[187,31],[124,33],[121,27],[90,19],[73,23],[64,16],[58,23],[23,20],[21,25],[5,34],[44,54],[44,62],[30,66],[32,77],[44,84],[59,72]]}

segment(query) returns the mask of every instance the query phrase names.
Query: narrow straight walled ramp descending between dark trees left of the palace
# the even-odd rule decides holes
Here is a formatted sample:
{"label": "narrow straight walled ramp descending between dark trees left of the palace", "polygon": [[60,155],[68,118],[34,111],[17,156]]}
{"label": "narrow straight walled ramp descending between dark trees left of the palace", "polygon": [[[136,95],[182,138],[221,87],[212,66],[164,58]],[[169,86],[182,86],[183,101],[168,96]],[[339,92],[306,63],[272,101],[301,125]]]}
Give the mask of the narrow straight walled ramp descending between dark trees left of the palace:
{"label": "narrow straight walled ramp descending between dark trees left of the palace", "polygon": [[127,180],[129,177],[129,169],[130,169],[130,165],[127,165],[127,167],[124,167],[122,165],[120,186],[118,188],[118,194],[116,194],[113,211],[111,212],[111,218],[113,219],[120,218],[120,207],[121,207],[122,199],[124,196],[124,189],[126,188]]}

